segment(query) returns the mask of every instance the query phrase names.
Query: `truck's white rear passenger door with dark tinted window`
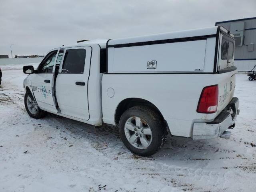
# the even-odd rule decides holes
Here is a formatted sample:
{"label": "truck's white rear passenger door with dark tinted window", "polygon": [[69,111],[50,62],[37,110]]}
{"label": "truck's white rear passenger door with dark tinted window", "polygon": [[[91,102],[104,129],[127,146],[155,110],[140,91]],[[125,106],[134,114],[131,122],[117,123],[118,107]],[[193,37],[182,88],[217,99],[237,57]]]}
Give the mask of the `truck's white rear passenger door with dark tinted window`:
{"label": "truck's white rear passenger door with dark tinted window", "polygon": [[56,78],[56,98],[61,114],[89,120],[87,82],[91,54],[89,46],[64,49]]}

